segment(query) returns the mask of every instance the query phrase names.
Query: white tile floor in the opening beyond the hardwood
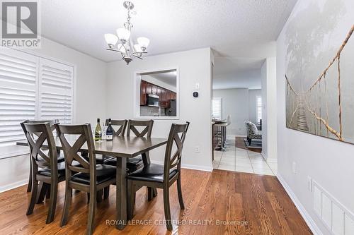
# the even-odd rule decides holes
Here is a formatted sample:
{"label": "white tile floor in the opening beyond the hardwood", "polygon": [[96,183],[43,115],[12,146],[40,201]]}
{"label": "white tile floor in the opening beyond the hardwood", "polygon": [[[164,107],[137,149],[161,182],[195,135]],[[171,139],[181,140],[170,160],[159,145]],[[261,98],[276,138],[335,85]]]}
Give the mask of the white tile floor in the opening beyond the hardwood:
{"label": "white tile floor in the opening beyond the hardwood", "polygon": [[260,153],[235,147],[232,142],[232,140],[227,141],[227,151],[214,152],[214,161],[212,162],[214,169],[270,176],[277,174],[277,163],[267,163]]}

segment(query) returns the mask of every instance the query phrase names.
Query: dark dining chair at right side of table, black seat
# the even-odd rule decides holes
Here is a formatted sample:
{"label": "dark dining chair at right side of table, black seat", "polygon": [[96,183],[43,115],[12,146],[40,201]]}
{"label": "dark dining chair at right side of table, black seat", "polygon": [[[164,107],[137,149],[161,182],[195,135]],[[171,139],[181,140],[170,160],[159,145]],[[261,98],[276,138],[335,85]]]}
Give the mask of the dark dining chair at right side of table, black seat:
{"label": "dark dining chair at right side of table, black seat", "polygon": [[[127,175],[127,217],[134,215],[135,192],[142,186],[162,188],[164,191],[164,212],[166,227],[172,230],[171,211],[169,202],[169,187],[177,181],[179,205],[184,210],[181,188],[181,157],[183,143],[189,122],[185,124],[173,123],[167,140],[164,165],[148,164],[141,169]],[[175,148],[173,148],[175,147]],[[176,149],[176,150],[175,150]],[[175,150],[175,151],[172,151]],[[172,154],[173,152],[173,154]]]}

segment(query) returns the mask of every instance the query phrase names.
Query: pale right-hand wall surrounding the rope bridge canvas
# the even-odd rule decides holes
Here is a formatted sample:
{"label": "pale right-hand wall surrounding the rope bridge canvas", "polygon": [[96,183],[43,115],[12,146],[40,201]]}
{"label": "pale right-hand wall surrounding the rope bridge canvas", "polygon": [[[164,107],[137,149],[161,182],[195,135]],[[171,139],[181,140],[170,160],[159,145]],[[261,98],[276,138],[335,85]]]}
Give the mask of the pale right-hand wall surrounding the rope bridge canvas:
{"label": "pale right-hand wall surrounding the rope bridge canvas", "polygon": [[[351,0],[343,2],[353,4]],[[299,0],[290,18],[296,17],[297,13],[308,3],[308,0]],[[333,4],[337,2],[333,1]],[[343,3],[338,2],[338,4]],[[351,20],[343,23],[342,26],[350,28],[353,25],[353,12],[353,7],[346,8],[347,16],[350,16]],[[343,13],[341,17],[344,16]],[[277,40],[278,175],[282,177],[298,203],[307,212],[309,219],[320,230],[319,233],[331,234],[314,212],[312,192],[307,189],[307,176],[331,193],[333,198],[336,198],[344,207],[354,212],[354,145],[285,128],[284,74],[287,25]],[[296,162],[297,174],[292,173],[292,162]]]}

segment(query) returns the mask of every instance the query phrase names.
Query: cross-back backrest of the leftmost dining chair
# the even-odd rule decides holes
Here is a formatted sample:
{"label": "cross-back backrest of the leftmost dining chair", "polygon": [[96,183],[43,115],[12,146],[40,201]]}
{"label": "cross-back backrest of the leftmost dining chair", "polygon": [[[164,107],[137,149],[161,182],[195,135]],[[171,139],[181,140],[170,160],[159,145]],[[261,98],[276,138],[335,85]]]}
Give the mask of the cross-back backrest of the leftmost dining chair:
{"label": "cross-back backrest of the leftmost dining chair", "polygon": [[[35,167],[51,169],[52,175],[57,174],[57,147],[50,123],[26,123],[21,127],[30,146],[30,157]],[[38,138],[34,138],[37,136]],[[47,143],[48,147],[43,147]],[[43,152],[43,149],[48,149]]]}

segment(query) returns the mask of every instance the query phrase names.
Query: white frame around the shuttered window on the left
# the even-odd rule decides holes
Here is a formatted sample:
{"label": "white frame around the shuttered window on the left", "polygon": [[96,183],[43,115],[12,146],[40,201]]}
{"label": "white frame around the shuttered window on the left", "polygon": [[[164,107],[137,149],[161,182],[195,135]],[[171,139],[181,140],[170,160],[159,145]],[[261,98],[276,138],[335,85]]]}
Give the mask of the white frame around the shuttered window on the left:
{"label": "white frame around the shuttered window on the left", "polygon": [[[72,64],[72,63],[69,63],[67,61],[63,61],[61,59],[57,59],[57,58],[54,58],[54,57],[51,57],[51,56],[46,56],[45,54],[42,54],[42,53],[38,53],[38,52],[34,52],[34,51],[30,51],[28,52],[26,49],[11,49],[11,48],[1,48],[1,50],[6,50],[7,52],[11,52],[11,51],[17,51],[17,52],[23,52],[25,54],[30,54],[32,56],[37,56],[38,57],[38,60],[39,58],[42,58],[42,59],[48,59],[48,60],[51,60],[51,61],[55,61],[57,63],[60,63],[60,64],[64,64],[64,65],[67,65],[67,66],[72,66],[73,68],[73,73],[72,73],[72,123],[76,123],[76,69],[77,69],[77,66],[76,64]],[[40,71],[40,66],[39,66],[39,63],[38,63],[38,73]],[[38,81],[36,81],[38,83],[38,86],[39,86],[39,74],[38,74]],[[38,88],[38,91],[40,90],[40,88]],[[39,95],[38,93],[36,94],[37,97],[36,97],[36,111],[35,111],[35,116],[36,118],[38,118],[38,115],[39,115]],[[29,149],[28,147],[25,147],[25,146],[19,146],[19,145],[8,145],[8,146],[4,146],[4,147],[0,147],[0,159],[6,159],[6,158],[10,158],[10,157],[18,157],[18,156],[21,156],[21,155],[26,155],[29,153]]]}

